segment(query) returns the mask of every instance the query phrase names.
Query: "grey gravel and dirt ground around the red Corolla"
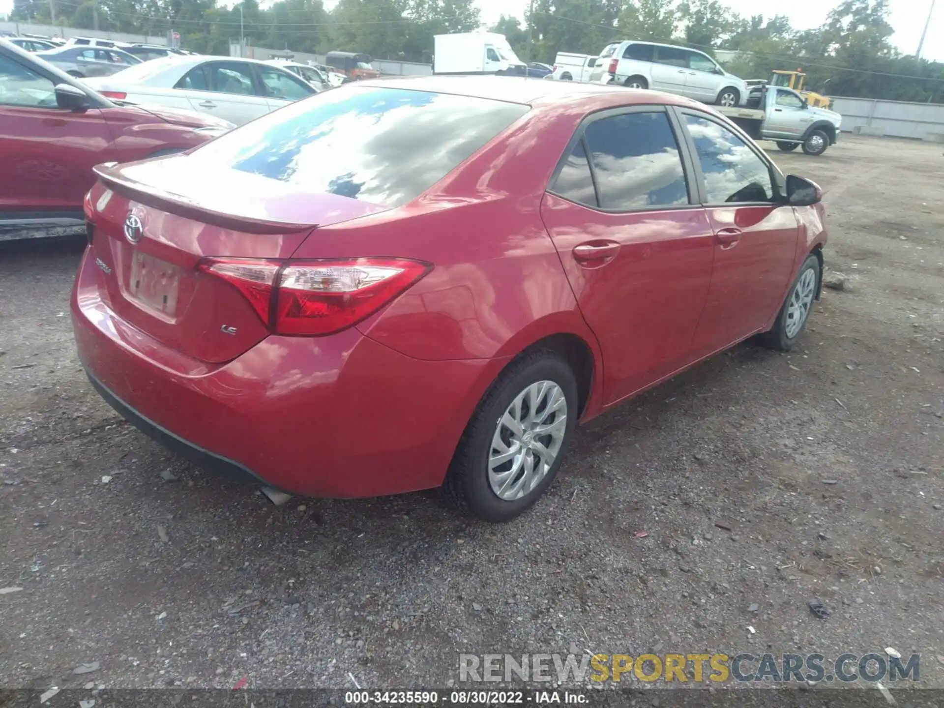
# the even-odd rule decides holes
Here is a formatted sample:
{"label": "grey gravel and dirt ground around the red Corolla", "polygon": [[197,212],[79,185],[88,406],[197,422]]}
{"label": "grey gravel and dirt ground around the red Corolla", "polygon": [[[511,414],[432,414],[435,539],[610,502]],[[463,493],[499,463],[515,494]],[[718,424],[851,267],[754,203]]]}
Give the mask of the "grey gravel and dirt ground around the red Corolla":
{"label": "grey gravel and dirt ground around the red Corolla", "polygon": [[0,686],[444,687],[460,652],[891,647],[944,687],[944,156],[847,136],[774,158],[828,190],[847,291],[791,355],[739,346],[583,427],[506,526],[434,493],[277,508],[194,470],[76,362],[81,244],[5,244],[0,588],[23,589],[0,595]]}

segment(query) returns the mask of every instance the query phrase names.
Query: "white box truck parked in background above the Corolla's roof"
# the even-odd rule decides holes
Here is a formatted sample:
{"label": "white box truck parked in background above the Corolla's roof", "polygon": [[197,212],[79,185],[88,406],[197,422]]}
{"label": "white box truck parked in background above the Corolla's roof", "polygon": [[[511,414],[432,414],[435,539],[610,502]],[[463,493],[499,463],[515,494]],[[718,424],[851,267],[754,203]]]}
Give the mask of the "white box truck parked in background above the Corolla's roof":
{"label": "white box truck parked in background above the Corolla's roof", "polygon": [[495,32],[437,34],[432,51],[433,74],[527,74],[512,45]]}

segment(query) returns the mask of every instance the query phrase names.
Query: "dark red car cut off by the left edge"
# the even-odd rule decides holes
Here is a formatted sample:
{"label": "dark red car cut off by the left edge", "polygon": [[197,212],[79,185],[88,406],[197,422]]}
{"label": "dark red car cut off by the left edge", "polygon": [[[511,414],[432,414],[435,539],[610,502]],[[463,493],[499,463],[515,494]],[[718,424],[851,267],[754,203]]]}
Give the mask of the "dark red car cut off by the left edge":
{"label": "dark red car cut off by the left edge", "polygon": [[231,127],[202,113],[116,104],[0,40],[0,240],[81,230],[94,165],[187,150]]}

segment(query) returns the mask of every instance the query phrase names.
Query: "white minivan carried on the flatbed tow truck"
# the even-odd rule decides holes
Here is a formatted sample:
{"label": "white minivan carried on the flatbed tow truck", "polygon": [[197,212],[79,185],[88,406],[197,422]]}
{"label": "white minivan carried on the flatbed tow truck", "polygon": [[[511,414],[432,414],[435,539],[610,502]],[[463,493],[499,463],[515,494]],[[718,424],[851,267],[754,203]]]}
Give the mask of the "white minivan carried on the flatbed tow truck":
{"label": "white minivan carried on the flatbed tow truck", "polygon": [[591,81],[678,93],[703,103],[743,106],[747,83],[695,49],[653,42],[615,42],[600,52]]}

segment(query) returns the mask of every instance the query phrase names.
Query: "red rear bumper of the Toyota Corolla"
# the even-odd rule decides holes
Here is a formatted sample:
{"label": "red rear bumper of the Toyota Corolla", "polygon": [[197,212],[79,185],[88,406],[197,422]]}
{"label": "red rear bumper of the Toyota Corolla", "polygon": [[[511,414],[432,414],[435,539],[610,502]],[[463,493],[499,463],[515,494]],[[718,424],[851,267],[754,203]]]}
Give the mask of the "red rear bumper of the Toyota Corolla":
{"label": "red rear bumper of the Toyota Corolla", "polygon": [[270,336],[231,362],[199,362],[111,312],[94,270],[87,251],[72,315],[99,394],[195,464],[294,494],[376,497],[440,485],[507,362],[420,361],[357,329]]}

